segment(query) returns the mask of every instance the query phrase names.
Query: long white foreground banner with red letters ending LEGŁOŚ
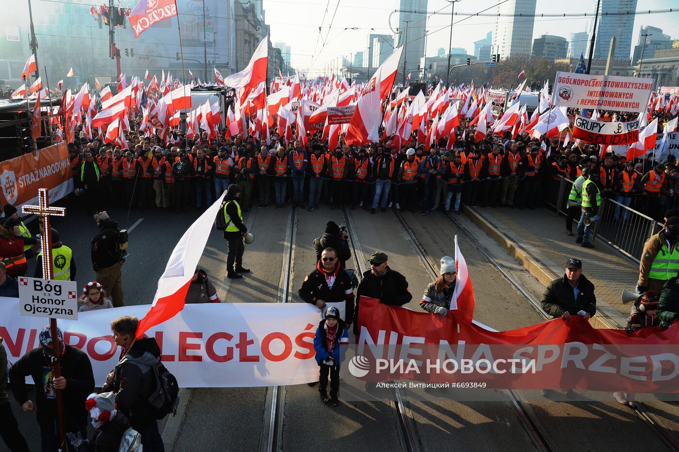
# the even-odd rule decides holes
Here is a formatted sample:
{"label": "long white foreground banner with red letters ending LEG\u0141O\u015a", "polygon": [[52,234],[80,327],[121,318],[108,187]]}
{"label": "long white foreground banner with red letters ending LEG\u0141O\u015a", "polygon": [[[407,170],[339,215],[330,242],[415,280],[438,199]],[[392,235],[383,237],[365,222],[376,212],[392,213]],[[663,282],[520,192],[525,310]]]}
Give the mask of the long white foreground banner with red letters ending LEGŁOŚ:
{"label": "long white foreground banner with red letters ending LEG\u0141O\u015a", "polygon": [[[344,318],[344,302],[330,304]],[[90,356],[96,385],[103,385],[120,357],[111,320],[141,318],[148,309],[114,307],[58,320],[65,343]],[[163,363],[182,388],[295,385],[318,381],[314,336],[320,320],[320,310],[308,303],[192,304],[148,335],[158,341]],[[20,316],[18,299],[0,297],[0,337],[10,364],[39,345],[38,333],[47,324],[45,318]]]}

